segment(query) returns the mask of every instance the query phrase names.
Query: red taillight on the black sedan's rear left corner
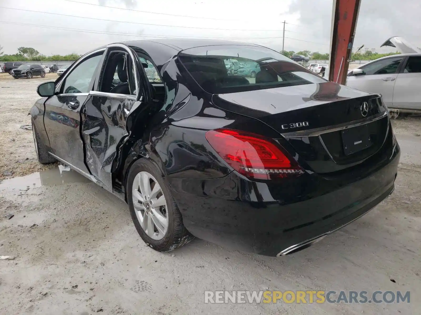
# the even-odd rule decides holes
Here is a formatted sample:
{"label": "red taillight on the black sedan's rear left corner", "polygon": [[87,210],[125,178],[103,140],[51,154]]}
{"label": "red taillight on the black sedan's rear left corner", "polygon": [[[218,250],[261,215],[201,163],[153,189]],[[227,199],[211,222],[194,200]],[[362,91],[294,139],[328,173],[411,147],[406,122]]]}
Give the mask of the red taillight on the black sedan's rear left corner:
{"label": "red taillight on the black sedan's rear left corner", "polygon": [[226,163],[248,178],[272,179],[303,173],[279,144],[257,134],[216,129],[206,132],[206,140]]}

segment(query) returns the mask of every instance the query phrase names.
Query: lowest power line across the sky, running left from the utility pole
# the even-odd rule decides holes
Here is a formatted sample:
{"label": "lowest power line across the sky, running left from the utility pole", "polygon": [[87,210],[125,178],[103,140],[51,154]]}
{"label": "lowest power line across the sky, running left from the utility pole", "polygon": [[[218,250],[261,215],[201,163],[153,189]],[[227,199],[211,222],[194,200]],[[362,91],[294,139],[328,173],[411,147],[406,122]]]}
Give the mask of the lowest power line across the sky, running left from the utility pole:
{"label": "lowest power line across the sky, running left from the utility pole", "polygon": [[106,31],[98,31],[98,30],[94,30],[94,29],[72,29],[72,28],[69,28],[69,27],[28,24],[28,23],[17,23],[17,22],[8,22],[8,21],[0,21],[0,23],[21,25],[21,26],[35,26],[35,27],[40,27],[40,28],[44,28],[44,29],[55,29],[55,30],[80,32],[80,33],[130,36],[130,37],[198,38],[198,39],[206,39],[206,38],[209,38],[209,39],[275,39],[275,38],[281,38],[281,37],[210,37],[210,36],[177,36],[177,35],[158,35],[158,34],[135,34],[135,33],[125,33],[125,32],[106,32]]}

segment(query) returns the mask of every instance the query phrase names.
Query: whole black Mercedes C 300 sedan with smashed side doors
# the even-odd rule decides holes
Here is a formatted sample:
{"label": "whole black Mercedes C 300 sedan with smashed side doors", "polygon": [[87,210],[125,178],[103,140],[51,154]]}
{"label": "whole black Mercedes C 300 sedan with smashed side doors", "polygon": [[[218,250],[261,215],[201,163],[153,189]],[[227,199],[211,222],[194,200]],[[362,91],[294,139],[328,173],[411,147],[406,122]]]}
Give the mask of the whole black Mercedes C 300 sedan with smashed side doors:
{"label": "whole black Mercedes C 300 sedan with smashed side doors", "polygon": [[[254,78],[228,75],[227,60]],[[262,255],[306,248],[394,189],[400,148],[380,95],[253,44],[110,44],[37,89],[40,163],[128,203],[158,251],[201,239]]]}

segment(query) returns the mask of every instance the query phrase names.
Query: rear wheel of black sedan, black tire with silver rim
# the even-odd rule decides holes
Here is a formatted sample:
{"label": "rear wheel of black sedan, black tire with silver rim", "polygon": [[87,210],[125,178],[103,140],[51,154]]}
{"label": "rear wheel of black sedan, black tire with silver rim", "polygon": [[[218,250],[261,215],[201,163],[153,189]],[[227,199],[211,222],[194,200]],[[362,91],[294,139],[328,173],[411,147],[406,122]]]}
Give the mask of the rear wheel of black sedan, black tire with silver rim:
{"label": "rear wheel of black sedan, black tire with silver rim", "polygon": [[[143,184],[145,176],[147,185],[149,184],[149,192],[154,191],[156,184],[159,185],[158,189],[160,189],[160,192],[155,195],[157,198],[144,198],[140,187],[141,185],[142,187],[145,186]],[[168,188],[168,183],[151,160],[141,158],[133,163],[127,176],[126,188],[127,201],[134,226],[147,245],[159,252],[168,252],[184,246],[195,238],[184,227],[180,210]],[[133,196],[133,193],[135,193],[135,196]],[[140,198],[138,199],[138,197]],[[164,198],[165,205],[159,208],[153,207],[153,204],[157,204],[158,199],[161,200],[161,197]],[[144,202],[140,202],[141,198],[144,198]],[[155,199],[157,201],[154,202],[153,200]],[[137,205],[136,208],[135,203]],[[158,213],[157,211],[160,212]],[[164,227],[165,223],[160,225],[160,222],[163,222],[165,219],[166,229]],[[144,222],[141,222],[141,220]],[[155,224],[156,220],[158,220],[158,224]],[[152,223],[152,229],[148,230],[147,226],[148,224],[151,225],[150,223]],[[160,229],[158,229],[158,225],[160,225]],[[163,229],[165,231],[161,231]]]}

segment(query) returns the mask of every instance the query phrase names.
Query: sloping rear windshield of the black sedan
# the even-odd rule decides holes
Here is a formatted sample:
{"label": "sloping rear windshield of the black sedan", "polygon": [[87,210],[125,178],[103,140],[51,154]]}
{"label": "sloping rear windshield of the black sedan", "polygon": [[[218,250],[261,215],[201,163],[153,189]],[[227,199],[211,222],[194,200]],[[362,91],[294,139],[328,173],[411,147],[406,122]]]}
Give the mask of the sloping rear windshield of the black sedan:
{"label": "sloping rear windshield of the black sedan", "polygon": [[[293,60],[264,47],[203,46],[179,53],[181,63],[197,84],[211,94],[326,82]],[[229,60],[255,66],[253,71],[229,67]]]}

